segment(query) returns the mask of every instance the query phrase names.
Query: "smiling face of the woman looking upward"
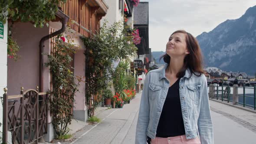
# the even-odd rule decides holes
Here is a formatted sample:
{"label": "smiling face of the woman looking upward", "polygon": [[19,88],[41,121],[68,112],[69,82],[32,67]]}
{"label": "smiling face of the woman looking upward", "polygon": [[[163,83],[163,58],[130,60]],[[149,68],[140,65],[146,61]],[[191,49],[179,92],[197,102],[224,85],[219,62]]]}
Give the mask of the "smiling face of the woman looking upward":
{"label": "smiling face of the woman looking upward", "polygon": [[189,54],[187,50],[186,34],[174,33],[171,35],[166,44],[166,53],[171,57],[185,57]]}

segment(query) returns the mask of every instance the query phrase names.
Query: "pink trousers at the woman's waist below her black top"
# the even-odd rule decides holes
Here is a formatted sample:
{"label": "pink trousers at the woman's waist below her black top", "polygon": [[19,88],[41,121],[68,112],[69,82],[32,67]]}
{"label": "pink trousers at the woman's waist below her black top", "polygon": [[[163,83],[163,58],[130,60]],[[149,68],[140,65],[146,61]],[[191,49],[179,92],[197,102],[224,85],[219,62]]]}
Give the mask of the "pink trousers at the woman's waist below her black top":
{"label": "pink trousers at the woman's waist below her black top", "polygon": [[198,137],[187,140],[186,135],[176,137],[156,137],[151,139],[151,144],[201,144]]}

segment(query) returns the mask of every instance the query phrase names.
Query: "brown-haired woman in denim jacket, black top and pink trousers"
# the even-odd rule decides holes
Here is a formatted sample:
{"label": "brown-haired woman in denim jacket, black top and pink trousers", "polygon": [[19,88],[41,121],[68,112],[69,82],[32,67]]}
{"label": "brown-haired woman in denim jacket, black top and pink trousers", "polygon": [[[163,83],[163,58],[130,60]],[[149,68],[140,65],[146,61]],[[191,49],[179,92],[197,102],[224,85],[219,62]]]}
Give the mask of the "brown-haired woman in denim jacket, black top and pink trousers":
{"label": "brown-haired woman in denim jacket, black top and pink trousers", "polygon": [[213,124],[197,39],[171,34],[163,68],[148,72],[141,95],[136,144],[213,144]]}

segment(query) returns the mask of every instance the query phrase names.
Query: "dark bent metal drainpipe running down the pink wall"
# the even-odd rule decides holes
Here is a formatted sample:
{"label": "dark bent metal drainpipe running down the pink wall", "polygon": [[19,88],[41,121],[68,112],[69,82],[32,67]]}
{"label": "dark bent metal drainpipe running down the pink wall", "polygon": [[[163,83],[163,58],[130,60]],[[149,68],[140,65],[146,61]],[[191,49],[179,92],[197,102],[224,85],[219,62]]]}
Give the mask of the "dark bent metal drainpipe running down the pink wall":
{"label": "dark bent metal drainpipe running down the pink wall", "polygon": [[43,92],[43,47],[44,47],[44,42],[47,39],[50,39],[54,36],[57,36],[61,33],[63,33],[66,30],[67,27],[67,22],[69,20],[69,16],[67,16],[65,13],[63,13],[61,10],[58,10],[55,13],[56,16],[58,16],[59,18],[61,18],[61,23],[62,23],[62,27],[61,29],[59,29],[58,31],[54,32],[54,33],[50,33],[47,36],[44,36],[39,43],[39,92]]}

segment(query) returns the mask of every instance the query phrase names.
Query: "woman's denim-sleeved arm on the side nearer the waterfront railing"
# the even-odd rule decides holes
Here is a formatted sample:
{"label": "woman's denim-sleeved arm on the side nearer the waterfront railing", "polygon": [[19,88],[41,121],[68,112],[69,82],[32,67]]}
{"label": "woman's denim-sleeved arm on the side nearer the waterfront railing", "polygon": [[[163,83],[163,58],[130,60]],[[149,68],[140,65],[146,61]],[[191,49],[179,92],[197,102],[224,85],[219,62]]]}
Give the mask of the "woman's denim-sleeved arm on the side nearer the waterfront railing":
{"label": "woman's denim-sleeved arm on the side nearer the waterfront railing", "polygon": [[213,123],[210,114],[207,79],[203,75],[201,84],[201,103],[198,118],[198,129],[201,144],[213,144]]}

